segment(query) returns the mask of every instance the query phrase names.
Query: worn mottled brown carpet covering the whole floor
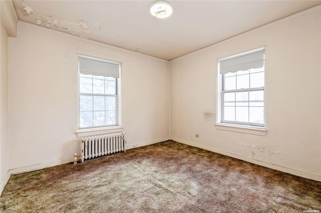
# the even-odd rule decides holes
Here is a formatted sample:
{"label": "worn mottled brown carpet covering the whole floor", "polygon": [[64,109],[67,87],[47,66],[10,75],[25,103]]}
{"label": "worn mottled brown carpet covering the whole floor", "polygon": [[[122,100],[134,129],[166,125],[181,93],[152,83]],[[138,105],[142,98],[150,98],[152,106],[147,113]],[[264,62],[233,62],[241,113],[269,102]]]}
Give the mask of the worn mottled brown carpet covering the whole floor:
{"label": "worn mottled brown carpet covering the whole floor", "polygon": [[166,141],[12,175],[1,212],[321,212],[321,182]]}

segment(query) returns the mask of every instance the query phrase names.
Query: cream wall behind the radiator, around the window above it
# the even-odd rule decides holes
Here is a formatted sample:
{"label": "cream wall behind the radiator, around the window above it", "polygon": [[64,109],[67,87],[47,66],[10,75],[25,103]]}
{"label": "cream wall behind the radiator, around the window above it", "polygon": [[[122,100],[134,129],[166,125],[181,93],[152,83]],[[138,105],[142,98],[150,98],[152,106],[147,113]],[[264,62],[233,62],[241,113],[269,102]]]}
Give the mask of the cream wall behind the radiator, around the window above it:
{"label": "cream wall behind the radiator, around the window above it", "polygon": [[9,39],[13,172],[70,162],[79,153],[78,54],[122,62],[128,148],[169,139],[168,61],[19,22],[17,39]]}

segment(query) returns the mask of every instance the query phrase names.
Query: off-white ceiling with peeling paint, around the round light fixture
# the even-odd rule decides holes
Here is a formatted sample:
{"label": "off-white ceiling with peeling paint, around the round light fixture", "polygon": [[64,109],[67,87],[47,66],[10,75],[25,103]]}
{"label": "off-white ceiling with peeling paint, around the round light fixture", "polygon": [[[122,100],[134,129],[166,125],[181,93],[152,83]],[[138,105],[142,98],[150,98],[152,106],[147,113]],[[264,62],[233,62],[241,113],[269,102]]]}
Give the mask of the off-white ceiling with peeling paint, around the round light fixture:
{"label": "off-white ceiling with peeling paint, around the round light fixture", "polygon": [[172,60],[321,4],[318,1],[172,1],[157,19],[155,1],[13,1],[20,21]]}

